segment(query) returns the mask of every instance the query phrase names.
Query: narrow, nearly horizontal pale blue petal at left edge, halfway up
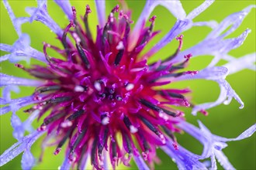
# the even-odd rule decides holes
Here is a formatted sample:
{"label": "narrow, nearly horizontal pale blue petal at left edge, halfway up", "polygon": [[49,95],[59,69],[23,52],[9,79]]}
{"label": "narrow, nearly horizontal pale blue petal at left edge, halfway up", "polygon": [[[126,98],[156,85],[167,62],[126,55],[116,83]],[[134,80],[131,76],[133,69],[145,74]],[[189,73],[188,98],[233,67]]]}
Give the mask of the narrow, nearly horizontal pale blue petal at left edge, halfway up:
{"label": "narrow, nearly horizontal pale blue petal at left edge, halfway up", "polygon": [[0,87],[8,85],[19,85],[28,87],[38,87],[43,84],[40,80],[30,80],[25,78],[20,78],[16,76],[9,76],[4,73],[0,73]]}

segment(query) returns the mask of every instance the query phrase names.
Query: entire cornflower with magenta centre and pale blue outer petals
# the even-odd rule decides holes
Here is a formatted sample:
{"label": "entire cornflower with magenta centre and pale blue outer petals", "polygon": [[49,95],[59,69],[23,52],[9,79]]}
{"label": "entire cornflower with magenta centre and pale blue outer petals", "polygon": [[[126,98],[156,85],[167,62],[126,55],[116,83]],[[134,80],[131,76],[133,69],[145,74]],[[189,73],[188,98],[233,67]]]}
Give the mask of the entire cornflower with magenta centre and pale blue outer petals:
{"label": "entire cornflower with magenta centre and pale blue outer petals", "polygon": [[[43,162],[45,148],[54,145],[54,155],[65,152],[61,169],[85,169],[88,163],[95,169],[116,168],[119,164],[129,166],[131,159],[138,168],[150,169],[159,162],[157,148],[161,148],[179,169],[216,169],[216,159],[223,168],[234,169],[222,149],[227,147],[227,141],[250,137],[256,124],[237,138],[223,138],[212,134],[201,121],[199,128],[189,124],[182,110],[191,107],[192,114],[201,112],[207,115],[209,108],[230,104],[233,98],[240,108],[244,107],[225,78],[243,69],[255,70],[255,53],[238,59],[229,54],[230,50],[243,44],[251,30],[246,29],[236,38],[227,36],[240,26],[255,5],[228,16],[220,23],[193,22],[213,1],[203,2],[186,15],[179,1],[148,0],[139,19],[133,23],[125,2],[120,1],[120,5],[106,12],[105,1],[95,0],[99,25],[94,28],[94,38],[88,19],[96,12],[89,5],[81,2],[85,5],[85,13],[79,19],[70,2],[54,2],[70,21],[65,28],[50,17],[46,0],[38,0],[35,8],[26,8],[29,17],[16,17],[9,2],[3,1],[19,39],[12,46],[0,44],[0,49],[9,53],[1,56],[0,61],[9,60],[35,78],[1,73],[0,114],[12,112],[11,124],[17,143],[2,153],[0,166],[23,153],[22,168],[33,168],[36,159],[30,148],[36,140],[43,138],[40,162]],[[159,33],[154,30],[157,16],[151,15],[157,5],[167,8],[177,22],[163,39],[144,53],[144,48]],[[34,21],[49,27],[61,45],[43,42],[41,50],[30,46],[29,35],[22,32],[21,26]],[[212,31],[202,42],[182,50],[182,32],[194,26],[208,26]],[[178,42],[175,53],[155,62],[148,61],[173,39]],[[50,56],[50,50],[61,57]],[[192,57],[202,55],[214,56],[209,66],[202,70],[185,70]],[[25,66],[20,63],[21,60],[29,62],[30,58],[42,64]],[[220,59],[227,63],[216,66]],[[189,98],[189,89],[171,87],[172,83],[194,79],[218,83],[219,98],[196,105]],[[18,93],[19,86],[34,87],[34,91],[26,97],[12,99],[11,92]],[[29,114],[24,122],[16,115],[22,107],[28,107],[24,112]],[[34,120],[41,122],[36,130],[32,127]],[[29,134],[25,136],[26,131]],[[175,134],[181,131],[202,143],[201,155],[178,144]],[[204,162],[207,158],[210,165]]]}

